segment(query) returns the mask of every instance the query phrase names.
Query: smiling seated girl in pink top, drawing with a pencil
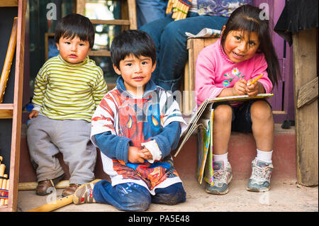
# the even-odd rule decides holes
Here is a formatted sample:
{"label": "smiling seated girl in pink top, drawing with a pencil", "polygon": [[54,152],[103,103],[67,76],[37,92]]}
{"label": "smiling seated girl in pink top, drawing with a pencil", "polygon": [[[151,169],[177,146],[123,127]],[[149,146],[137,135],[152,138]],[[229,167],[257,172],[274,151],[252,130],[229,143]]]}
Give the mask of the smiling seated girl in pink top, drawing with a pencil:
{"label": "smiling seated girl in pink top, drawing with a pencil", "polygon": [[[269,21],[262,10],[244,5],[223,26],[220,39],[205,47],[196,60],[197,103],[206,98],[270,93],[280,79],[279,62],[269,35]],[[261,15],[261,16],[260,16]],[[253,79],[263,74],[254,84]],[[252,161],[248,191],[268,191],[272,174],[274,119],[265,99],[214,103],[214,184],[206,192],[228,193],[232,169],[228,162],[230,132],[252,132],[257,157]]]}

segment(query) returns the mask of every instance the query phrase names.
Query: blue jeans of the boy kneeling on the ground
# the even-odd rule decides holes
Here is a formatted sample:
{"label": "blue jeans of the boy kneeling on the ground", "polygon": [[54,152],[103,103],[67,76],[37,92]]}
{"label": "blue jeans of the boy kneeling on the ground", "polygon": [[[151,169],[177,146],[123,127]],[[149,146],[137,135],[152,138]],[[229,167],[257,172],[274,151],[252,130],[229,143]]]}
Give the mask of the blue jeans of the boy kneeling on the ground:
{"label": "blue jeans of the boy kneeling on the ground", "polygon": [[186,192],[182,183],[174,183],[167,188],[156,188],[152,196],[147,188],[137,183],[120,183],[112,186],[108,181],[99,181],[93,189],[97,203],[113,205],[118,210],[144,211],[150,203],[176,205],[186,201]]}

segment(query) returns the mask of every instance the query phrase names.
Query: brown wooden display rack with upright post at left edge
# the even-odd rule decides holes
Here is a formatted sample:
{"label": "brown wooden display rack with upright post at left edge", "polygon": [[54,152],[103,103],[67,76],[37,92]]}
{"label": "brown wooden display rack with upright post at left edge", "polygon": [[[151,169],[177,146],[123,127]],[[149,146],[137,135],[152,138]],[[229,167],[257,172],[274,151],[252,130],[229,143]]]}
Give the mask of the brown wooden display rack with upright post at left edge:
{"label": "brown wooden display rack with upright post at left edge", "polygon": [[[4,102],[0,103],[0,130],[5,131],[0,136],[0,155],[4,158],[2,164],[6,165],[5,173],[9,176],[8,205],[0,206],[0,212],[15,212],[18,203],[26,3],[25,0],[0,0],[0,20],[4,22],[4,26],[0,27],[0,52],[7,52],[13,18],[18,17],[16,54],[13,57]],[[0,58],[4,57],[2,54]]]}

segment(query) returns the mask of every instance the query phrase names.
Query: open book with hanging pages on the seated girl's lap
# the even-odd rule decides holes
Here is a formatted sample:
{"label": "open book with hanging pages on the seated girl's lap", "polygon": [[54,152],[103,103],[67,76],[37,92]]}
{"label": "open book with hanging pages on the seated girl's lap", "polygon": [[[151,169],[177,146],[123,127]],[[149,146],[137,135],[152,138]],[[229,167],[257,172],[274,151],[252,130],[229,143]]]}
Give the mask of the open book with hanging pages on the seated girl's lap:
{"label": "open book with hanging pages on the seated girl's lap", "polygon": [[[185,145],[189,137],[197,131],[197,169],[196,176],[198,182],[202,183],[205,172],[205,181],[213,185],[213,109],[215,102],[221,101],[247,101],[257,98],[269,98],[274,94],[258,94],[250,97],[242,96],[226,96],[208,98],[201,103],[197,111],[191,116],[187,129],[181,134],[179,145],[177,146],[174,157],[177,157],[181,148]],[[208,161],[207,161],[208,160]]]}

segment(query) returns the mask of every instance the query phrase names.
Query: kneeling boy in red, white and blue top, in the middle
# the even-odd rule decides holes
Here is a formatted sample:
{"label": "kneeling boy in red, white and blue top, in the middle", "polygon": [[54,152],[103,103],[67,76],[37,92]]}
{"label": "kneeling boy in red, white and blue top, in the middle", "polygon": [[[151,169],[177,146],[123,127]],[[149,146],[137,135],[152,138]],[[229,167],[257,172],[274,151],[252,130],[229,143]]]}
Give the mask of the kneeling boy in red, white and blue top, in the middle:
{"label": "kneeling boy in red, white and blue top, in the middle", "polygon": [[142,211],[150,203],[185,202],[170,152],[186,123],[173,96],[150,80],[156,67],[152,38],[140,30],[124,30],[112,42],[111,60],[121,77],[91,121],[91,141],[101,150],[111,183],[96,180],[80,186],[74,203]]}

